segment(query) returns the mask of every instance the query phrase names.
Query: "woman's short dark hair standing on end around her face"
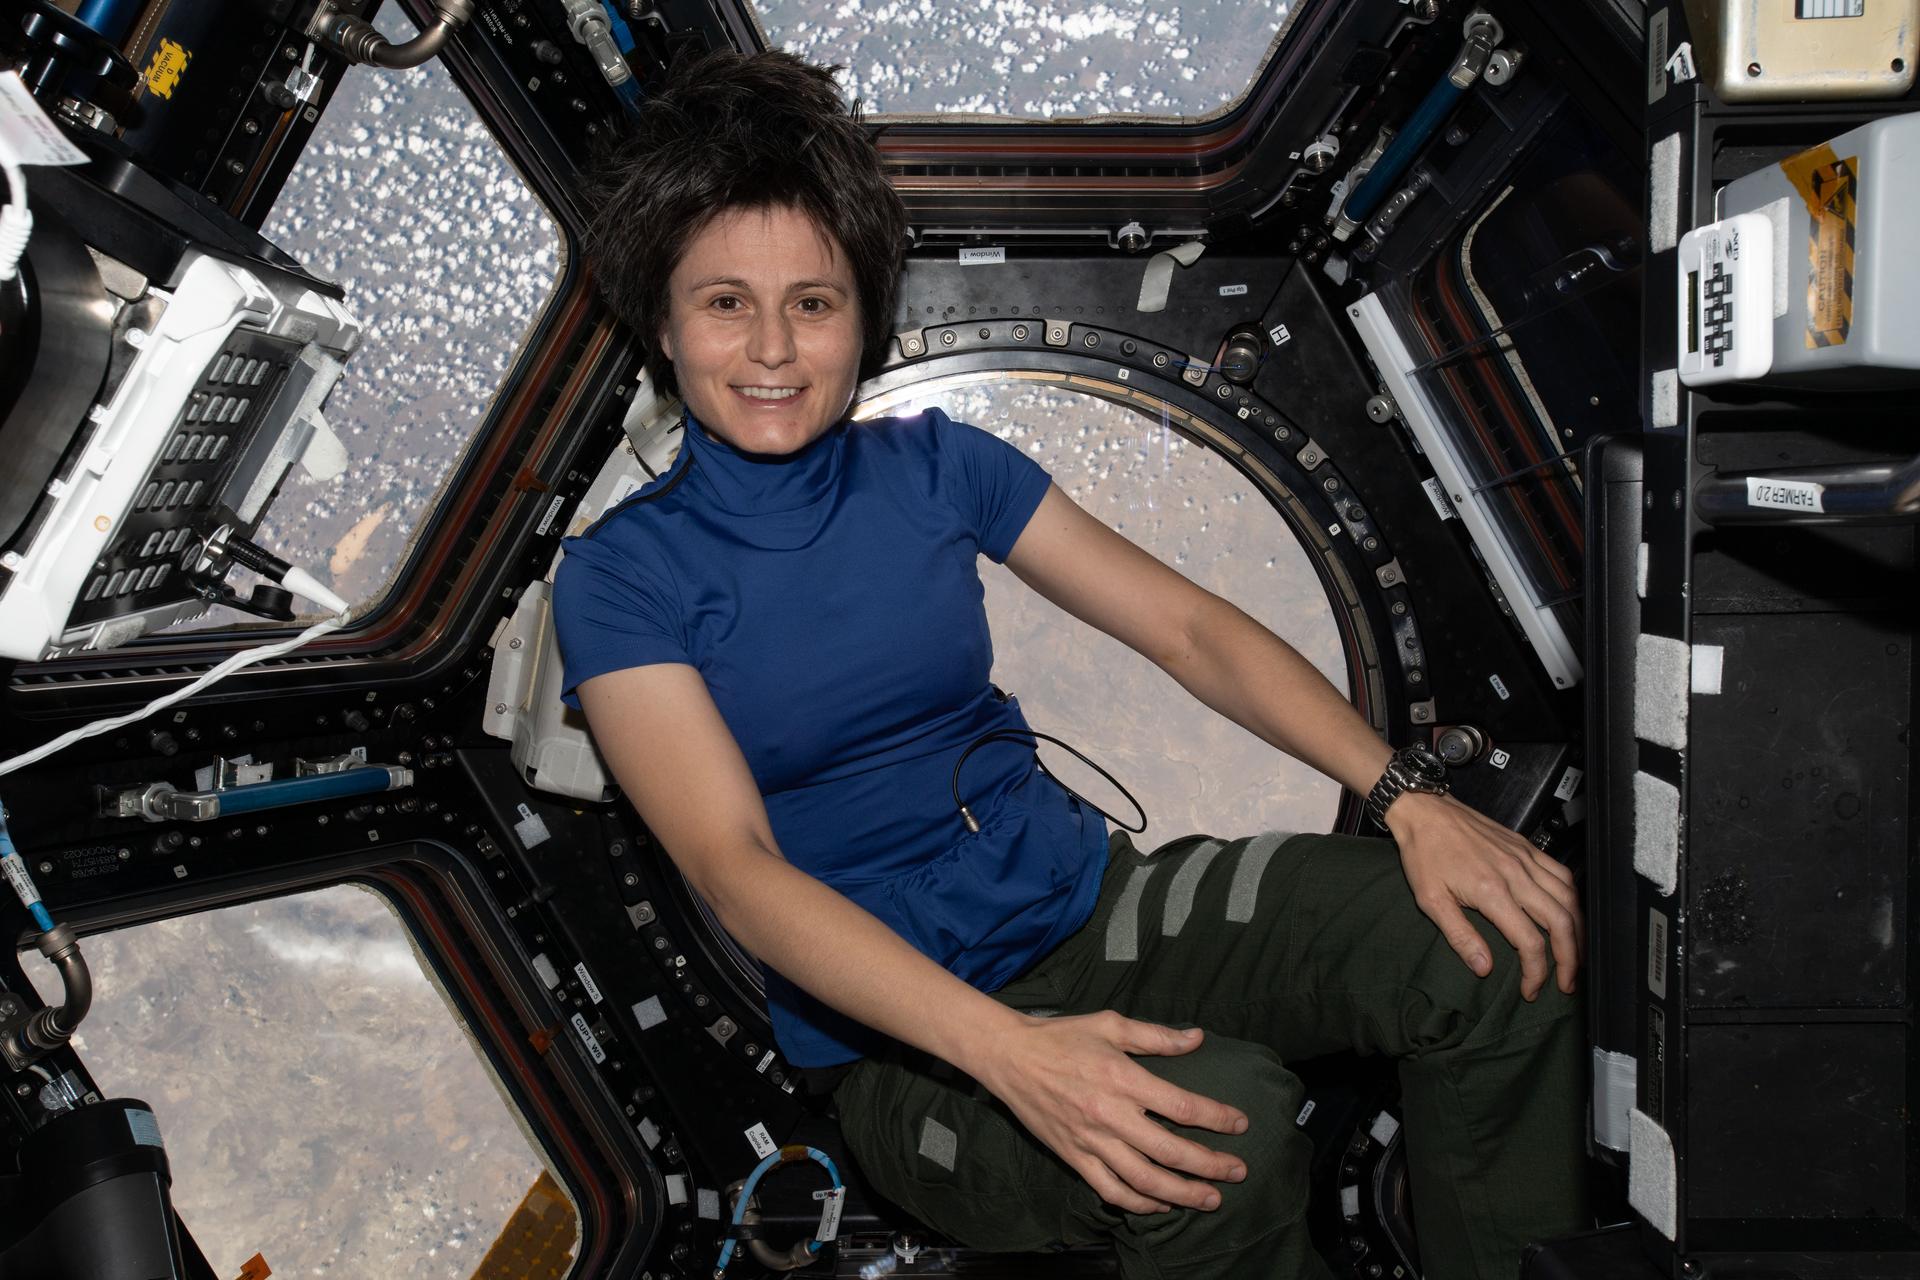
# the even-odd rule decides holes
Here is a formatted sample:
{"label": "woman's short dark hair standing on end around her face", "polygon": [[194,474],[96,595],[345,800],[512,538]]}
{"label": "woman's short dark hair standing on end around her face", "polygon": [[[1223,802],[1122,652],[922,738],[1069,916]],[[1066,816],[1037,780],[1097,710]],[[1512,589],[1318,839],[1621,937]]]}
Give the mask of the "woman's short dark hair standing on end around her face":
{"label": "woman's short dark hair standing on end around her face", "polygon": [[860,374],[885,359],[906,207],[833,71],[783,50],[684,58],[588,173],[588,267],[651,347],[657,386],[680,390],[660,351],[668,278],[693,236],[732,209],[791,207],[831,236],[860,296]]}

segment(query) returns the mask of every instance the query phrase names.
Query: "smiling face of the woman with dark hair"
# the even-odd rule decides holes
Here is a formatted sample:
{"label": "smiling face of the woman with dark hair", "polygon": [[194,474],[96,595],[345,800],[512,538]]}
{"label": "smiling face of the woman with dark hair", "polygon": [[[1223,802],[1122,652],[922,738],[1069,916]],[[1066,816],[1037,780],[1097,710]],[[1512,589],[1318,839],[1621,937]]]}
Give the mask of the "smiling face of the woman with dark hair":
{"label": "smiling face of the woman with dark hair", "polygon": [[687,409],[743,453],[795,453],[847,416],[860,299],[847,255],[797,209],[728,209],[687,244],[660,347]]}

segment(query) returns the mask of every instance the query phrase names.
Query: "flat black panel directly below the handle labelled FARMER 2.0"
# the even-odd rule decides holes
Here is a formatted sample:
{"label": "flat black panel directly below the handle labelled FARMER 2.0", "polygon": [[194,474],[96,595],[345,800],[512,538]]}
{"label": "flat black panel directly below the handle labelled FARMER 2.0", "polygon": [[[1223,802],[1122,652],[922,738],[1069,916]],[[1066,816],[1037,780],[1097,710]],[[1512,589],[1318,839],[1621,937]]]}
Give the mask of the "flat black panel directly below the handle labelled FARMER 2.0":
{"label": "flat black panel directly below the handle labelled FARMER 2.0", "polygon": [[1695,614],[1693,643],[1726,674],[1693,697],[1690,1000],[1903,1002],[1910,624]]}

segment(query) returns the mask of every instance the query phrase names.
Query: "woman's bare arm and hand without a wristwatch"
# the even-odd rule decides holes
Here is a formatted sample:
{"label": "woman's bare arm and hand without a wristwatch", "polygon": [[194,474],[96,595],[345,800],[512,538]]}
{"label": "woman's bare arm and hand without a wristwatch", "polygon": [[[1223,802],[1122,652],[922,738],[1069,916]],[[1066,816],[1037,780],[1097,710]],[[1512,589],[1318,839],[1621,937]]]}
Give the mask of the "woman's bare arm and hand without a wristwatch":
{"label": "woman's bare arm and hand without a wristwatch", "polygon": [[[1133,1213],[1212,1209],[1202,1178],[1238,1161],[1148,1119],[1240,1132],[1246,1117],[1177,1088],[1127,1054],[1185,1054],[1200,1032],[1119,1013],[1027,1017],[908,946],[839,890],[791,865],[701,674],[636,666],[580,685],[593,739],[634,808],[741,946],[841,1013],[966,1071],[1100,1194]],[[1238,1173],[1236,1173],[1238,1171]]]}

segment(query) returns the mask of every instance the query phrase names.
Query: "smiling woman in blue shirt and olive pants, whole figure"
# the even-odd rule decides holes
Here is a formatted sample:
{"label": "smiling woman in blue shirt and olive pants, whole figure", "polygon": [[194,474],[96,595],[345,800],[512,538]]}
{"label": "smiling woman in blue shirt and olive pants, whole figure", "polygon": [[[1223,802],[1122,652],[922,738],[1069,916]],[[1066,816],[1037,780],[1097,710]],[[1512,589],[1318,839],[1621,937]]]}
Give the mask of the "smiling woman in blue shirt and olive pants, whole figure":
{"label": "smiling woman in blue shirt and olive pants, whole figure", "polygon": [[[1110,837],[991,681],[981,557],[1356,793],[1400,758],[1294,647],[1027,449],[933,407],[843,416],[885,347],[904,213],[826,71],[714,54],[676,67],[643,121],[595,213],[595,271],[689,415],[668,472],[564,541],[563,689],[762,961],[776,1042],[833,1092],[872,1186],[975,1249],[1112,1240],[1127,1276],[1313,1276],[1309,1144],[1284,1121],[1302,1086],[1281,1065],[1311,1044],[1409,1057],[1409,1130],[1434,1161],[1423,1230],[1471,1240],[1434,1276],[1469,1274],[1469,1253],[1473,1274],[1511,1272],[1524,1232],[1578,1219],[1561,1159],[1578,1019],[1565,998],[1519,1015],[1513,952],[1478,983],[1496,963],[1461,912],[1528,946],[1526,1000],[1548,977],[1532,921],[1551,923],[1567,992],[1571,877],[1430,787],[1379,800],[1405,864],[1388,841],[1269,831],[1142,856]],[[1152,714],[1137,737],[1169,747]],[[1511,902],[1480,896],[1496,858]],[[1515,1077],[1488,1063],[1486,1100],[1459,1103],[1419,1092],[1411,1061],[1453,1063],[1457,1044],[1373,1032],[1428,1021],[1538,1048],[1505,1057]],[[1469,1221],[1442,1171],[1521,1079],[1536,1088],[1501,1132],[1523,1136],[1486,1169],[1544,1194],[1501,1190]]]}

